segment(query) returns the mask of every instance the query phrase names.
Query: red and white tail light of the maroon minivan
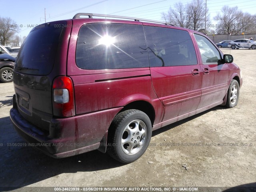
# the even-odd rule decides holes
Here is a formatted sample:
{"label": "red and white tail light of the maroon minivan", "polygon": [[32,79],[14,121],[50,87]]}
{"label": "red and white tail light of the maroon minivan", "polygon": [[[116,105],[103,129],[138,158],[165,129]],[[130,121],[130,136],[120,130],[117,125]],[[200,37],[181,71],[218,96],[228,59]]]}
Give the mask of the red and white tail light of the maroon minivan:
{"label": "red and white tail light of the maroon minivan", "polygon": [[53,115],[70,117],[75,115],[74,89],[72,80],[66,76],[59,76],[52,84]]}

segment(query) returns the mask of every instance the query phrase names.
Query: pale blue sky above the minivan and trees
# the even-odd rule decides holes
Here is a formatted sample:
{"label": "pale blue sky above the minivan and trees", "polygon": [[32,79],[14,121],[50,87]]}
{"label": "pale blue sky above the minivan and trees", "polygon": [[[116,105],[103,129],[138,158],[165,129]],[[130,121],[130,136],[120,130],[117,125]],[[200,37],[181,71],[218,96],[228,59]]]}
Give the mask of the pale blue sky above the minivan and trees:
{"label": "pale blue sky above the minivan and trees", "polygon": [[[161,13],[181,1],[192,0],[2,0],[1,17],[10,17],[20,27],[19,35],[27,36],[32,25],[73,18],[76,13],[98,13],[161,20]],[[256,0],[207,0],[210,16],[213,18],[222,6],[238,6],[243,12],[256,14]],[[208,24],[216,24],[212,21]]]}

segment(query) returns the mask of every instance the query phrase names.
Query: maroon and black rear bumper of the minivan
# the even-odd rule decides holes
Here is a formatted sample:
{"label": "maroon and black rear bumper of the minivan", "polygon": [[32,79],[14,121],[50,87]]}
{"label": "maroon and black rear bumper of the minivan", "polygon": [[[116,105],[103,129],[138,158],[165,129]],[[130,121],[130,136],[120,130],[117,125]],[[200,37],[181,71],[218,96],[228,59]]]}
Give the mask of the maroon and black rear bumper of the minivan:
{"label": "maroon and black rear bumper of the minivan", "polygon": [[17,108],[10,110],[10,118],[15,130],[28,142],[28,146],[37,148],[48,156],[64,158],[98,149],[112,119],[120,109],[52,119],[50,133],[30,124]]}

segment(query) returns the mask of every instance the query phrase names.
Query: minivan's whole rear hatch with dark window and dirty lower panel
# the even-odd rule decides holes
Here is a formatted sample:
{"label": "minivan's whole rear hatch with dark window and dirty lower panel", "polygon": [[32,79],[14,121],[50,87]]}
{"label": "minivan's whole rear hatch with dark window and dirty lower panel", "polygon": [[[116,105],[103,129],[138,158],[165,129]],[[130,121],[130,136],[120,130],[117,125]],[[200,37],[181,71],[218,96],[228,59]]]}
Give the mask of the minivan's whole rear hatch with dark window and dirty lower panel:
{"label": "minivan's whole rear hatch with dark window and dirty lower panel", "polygon": [[49,130],[52,81],[66,75],[66,55],[72,20],[36,26],[20,48],[14,67],[17,108],[31,124]]}

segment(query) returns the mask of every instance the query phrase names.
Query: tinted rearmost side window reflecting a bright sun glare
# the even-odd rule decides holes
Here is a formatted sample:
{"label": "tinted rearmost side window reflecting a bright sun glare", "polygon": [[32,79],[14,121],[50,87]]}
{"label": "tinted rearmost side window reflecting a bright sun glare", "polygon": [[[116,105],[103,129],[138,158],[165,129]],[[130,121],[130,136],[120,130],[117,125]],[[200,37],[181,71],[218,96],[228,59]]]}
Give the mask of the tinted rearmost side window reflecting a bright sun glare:
{"label": "tinted rearmost side window reflecting a bright sun glare", "polygon": [[142,25],[86,24],[76,45],[76,64],[82,69],[149,67]]}

